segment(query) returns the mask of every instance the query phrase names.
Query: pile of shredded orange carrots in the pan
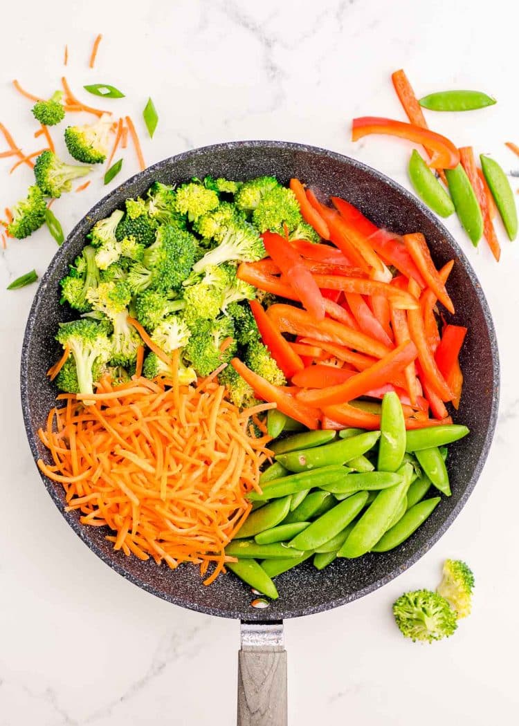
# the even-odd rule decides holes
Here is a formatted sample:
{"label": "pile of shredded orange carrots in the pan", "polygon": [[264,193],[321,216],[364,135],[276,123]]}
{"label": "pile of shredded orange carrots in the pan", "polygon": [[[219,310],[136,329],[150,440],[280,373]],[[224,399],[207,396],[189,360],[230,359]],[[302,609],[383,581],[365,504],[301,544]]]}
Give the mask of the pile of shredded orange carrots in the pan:
{"label": "pile of shredded orange carrots in the pan", "polygon": [[52,464],[38,465],[63,485],[67,510],[108,526],[126,555],[170,568],[197,563],[202,576],[213,564],[204,584],[214,582],[270,454],[270,437],[256,438],[249,417],[273,404],[240,412],[214,375],[197,388],[137,377],[116,386],[105,376],[90,406],[72,393],[57,398],[65,405],[39,430]]}

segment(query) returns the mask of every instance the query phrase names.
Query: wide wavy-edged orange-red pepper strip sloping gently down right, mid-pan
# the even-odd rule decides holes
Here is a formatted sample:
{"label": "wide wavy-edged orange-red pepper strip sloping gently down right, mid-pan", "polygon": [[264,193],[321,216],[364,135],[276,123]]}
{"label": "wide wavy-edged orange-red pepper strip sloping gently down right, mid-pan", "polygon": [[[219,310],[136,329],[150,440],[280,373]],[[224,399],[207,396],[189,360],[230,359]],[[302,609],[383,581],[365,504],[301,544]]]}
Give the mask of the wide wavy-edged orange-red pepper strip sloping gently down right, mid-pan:
{"label": "wide wavy-edged orange-red pepper strip sloping gently down right, mid-pan", "polygon": [[305,338],[338,343],[340,346],[355,348],[356,351],[375,358],[382,358],[389,352],[387,346],[382,345],[378,340],[373,340],[369,335],[358,333],[329,318],[318,322],[306,310],[291,305],[271,305],[267,310],[267,315],[280,333],[304,335]]}

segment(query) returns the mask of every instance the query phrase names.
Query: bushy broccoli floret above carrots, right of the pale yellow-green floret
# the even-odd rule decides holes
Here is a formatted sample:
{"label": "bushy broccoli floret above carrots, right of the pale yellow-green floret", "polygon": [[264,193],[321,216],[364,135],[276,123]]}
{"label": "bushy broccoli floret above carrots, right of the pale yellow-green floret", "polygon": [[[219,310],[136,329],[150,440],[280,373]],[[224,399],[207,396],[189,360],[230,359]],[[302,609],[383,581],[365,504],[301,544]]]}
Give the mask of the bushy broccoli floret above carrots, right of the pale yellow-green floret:
{"label": "bushy broccoli floret above carrots, right of the pale yellow-green floret", "polygon": [[[225,351],[220,351],[225,338],[233,338]],[[209,375],[222,363],[228,363],[236,354],[234,326],[227,317],[214,320],[198,320],[191,327],[191,337],[185,348],[185,356],[193,364],[198,375]]]}

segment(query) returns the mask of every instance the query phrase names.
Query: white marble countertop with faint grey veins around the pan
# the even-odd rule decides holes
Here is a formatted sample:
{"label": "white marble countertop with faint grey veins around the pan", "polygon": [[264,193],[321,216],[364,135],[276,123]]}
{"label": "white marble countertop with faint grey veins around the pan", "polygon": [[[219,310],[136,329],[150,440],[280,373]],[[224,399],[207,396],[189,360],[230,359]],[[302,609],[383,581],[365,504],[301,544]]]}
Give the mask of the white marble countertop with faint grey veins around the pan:
{"label": "white marble countertop with faint grey veins around the pan", "polygon": [[[349,141],[355,115],[403,118],[390,83],[391,71],[403,66],[420,94],[455,86],[494,94],[495,107],[438,115],[435,128],[517,169],[519,159],[503,145],[519,142],[511,9],[505,0],[11,4],[0,46],[0,121],[24,149],[38,148],[30,103],[9,81],[52,94],[67,42],[73,88],[120,86],[127,97],[112,103],[134,118],[153,97],[160,121],[153,142],[143,142],[148,163],[230,139],[286,139],[352,155],[408,186],[405,142]],[[98,32],[105,39],[89,70]],[[20,168],[9,177],[9,160],[0,163],[3,208],[31,175]],[[123,174],[134,171],[129,153]],[[94,181],[55,204],[65,231],[102,193]],[[292,724],[517,720],[519,242],[510,244],[501,230],[496,265],[484,242],[471,248],[454,218],[448,227],[478,272],[496,322],[502,400],[494,446],[462,514],[419,563],[362,600],[286,623]],[[232,724],[238,624],[176,608],[125,582],[81,544],[41,486],[18,391],[35,287],[5,287],[33,266],[42,274],[54,253],[44,230],[0,253],[0,726]],[[472,616],[451,640],[414,645],[395,629],[390,605],[401,592],[433,586],[448,556],[475,570]]]}

